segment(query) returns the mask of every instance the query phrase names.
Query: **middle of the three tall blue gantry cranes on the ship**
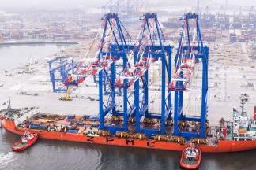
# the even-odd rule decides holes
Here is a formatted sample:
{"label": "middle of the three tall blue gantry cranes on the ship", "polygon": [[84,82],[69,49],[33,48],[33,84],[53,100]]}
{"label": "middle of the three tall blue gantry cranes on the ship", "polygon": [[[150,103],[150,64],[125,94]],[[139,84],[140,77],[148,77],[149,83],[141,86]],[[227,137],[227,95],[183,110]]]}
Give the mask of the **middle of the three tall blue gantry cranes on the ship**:
{"label": "middle of the three tall blue gantry cranes on the ship", "polygon": [[[171,91],[165,88],[171,81],[171,46],[164,45],[164,34],[156,13],[145,13],[141,22],[137,40],[131,46],[132,52],[128,60],[123,62],[123,70],[115,80],[115,87],[123,89],[122,128],[115,130],[128,131],[129,119],[135,118],[135,132],[151,136],[164,134],[166,120],[171,120]],[[160,61],[162,68],[160,114],[149,113],[149,68],[156,61]],[[142,117],[160,120],[160,127],[141,126]]]}

